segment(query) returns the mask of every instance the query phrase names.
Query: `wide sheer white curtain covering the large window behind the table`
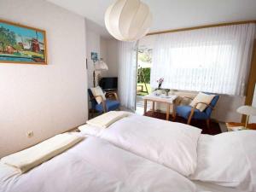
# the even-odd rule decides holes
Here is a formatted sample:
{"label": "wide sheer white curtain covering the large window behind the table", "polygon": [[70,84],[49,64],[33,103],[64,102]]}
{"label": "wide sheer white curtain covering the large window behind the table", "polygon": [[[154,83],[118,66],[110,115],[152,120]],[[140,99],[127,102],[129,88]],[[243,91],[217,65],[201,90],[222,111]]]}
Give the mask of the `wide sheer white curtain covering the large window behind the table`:
{"label": "wide sheer white curtain covering the large window behind the table", "polygon": [[254,38],[253,23],[158,35],[151,85],[242,96]]}

